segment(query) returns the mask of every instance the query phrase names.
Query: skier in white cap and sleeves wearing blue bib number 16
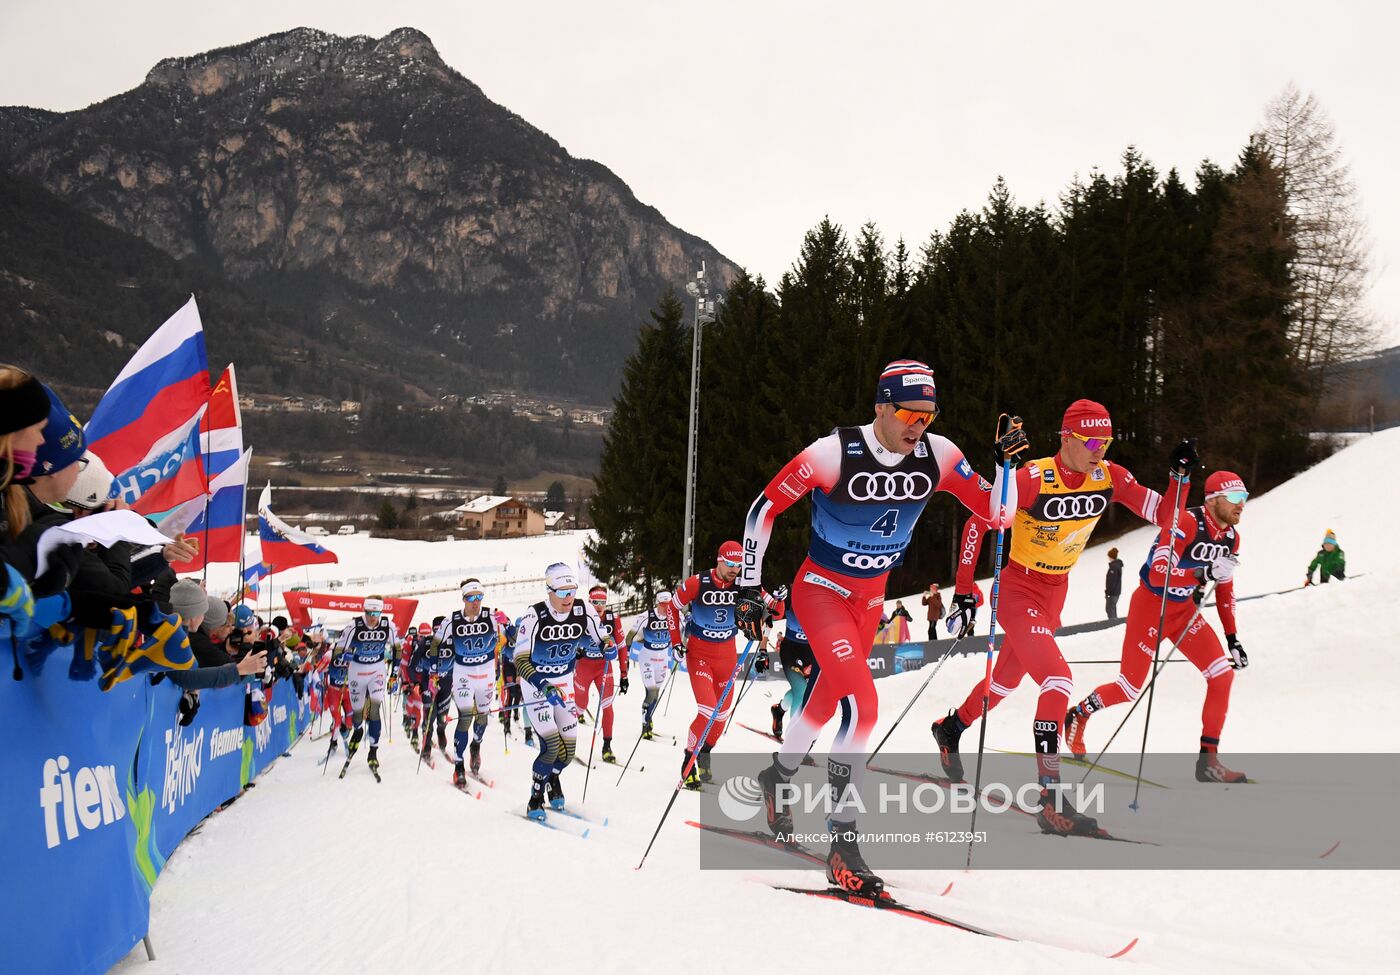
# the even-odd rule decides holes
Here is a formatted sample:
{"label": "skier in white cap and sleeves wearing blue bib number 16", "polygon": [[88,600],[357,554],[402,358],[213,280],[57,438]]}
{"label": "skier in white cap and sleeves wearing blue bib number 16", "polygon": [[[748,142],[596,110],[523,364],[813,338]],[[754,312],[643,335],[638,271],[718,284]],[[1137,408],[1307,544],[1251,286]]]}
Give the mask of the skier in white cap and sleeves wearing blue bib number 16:
{"label": "skier in white cap and sleeves wearing blue bib number 16", "polygon": [[545,820],[546,789],[549,804],[564,808],[559,773],[574,759],[578,737],[578,712],[571,700],[574,661],[589,640],[598,640],[605,649],[612,644],[598,614],[575,598],[578,580],[573,569],[556,562],[545,570],[545,600],[521,618],[515,636],[515,670],[525,682],[525,709],[539,735],[525,814],[540,821]]}

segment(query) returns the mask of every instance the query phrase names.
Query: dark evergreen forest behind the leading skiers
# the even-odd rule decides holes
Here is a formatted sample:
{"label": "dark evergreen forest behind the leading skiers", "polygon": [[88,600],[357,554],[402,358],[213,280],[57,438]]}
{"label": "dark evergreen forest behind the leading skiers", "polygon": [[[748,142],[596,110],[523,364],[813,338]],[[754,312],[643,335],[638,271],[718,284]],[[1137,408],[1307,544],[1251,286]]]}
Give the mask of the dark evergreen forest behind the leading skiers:
{"label": "dark evergreen forest behind the leading skiers", "polygon": [[[1120,172],[1075,181],[1053,206],[1025,206],[997,181],[917,249],[822,220],[776,284],[739,277],[704,328],[696,567],[741,535],[797,451],[872,419],[875,380],[896,357],[932,366],[930,430],[983,475],[998,413],[1021,415],[1032,457],[1046,457],[1065,406],[1086,396],[1113,415],[1109,458],[1140,480],[1162,490],[1168,450],[1190,436],[1204,471],[1236,471],[1257,495],[1312,459],[1319,384],[1292,321],[1295,251],[1284,172],[1260,137],[1190,182],[1130,148]],[[605,440],[589,558],[613,581],[651,588],[680,572],[689,305],[658,300]],[[809,504],[778,520],[766,584],[801,562]],[[935,495],[889,591],[949,584],[965,517]],[[1099,531],[1133,524],[1110,511]]]}

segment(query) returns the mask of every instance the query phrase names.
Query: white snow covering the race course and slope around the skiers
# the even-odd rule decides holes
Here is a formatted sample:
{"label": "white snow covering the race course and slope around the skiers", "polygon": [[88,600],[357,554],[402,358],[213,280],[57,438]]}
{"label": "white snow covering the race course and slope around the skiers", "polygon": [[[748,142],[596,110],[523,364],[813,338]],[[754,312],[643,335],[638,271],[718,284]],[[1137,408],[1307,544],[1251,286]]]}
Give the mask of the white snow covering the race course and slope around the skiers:
{"label": "white snow covering the race course and slope around the skiers", "polygon": [[[1301,584],[1326,528],[1337,531],[1351,572],[1364,576],[1240,604],[1239,635],[1250,667],[1235,681],[1222,745],[1226,761],[1252,749],[1400,751],[1400,658],[1387,622],[1400,602],[1400,546],[1383,489],[1397,475],[1400,430],[1392,430],[1358,441],[1247,506],[1240,525],[1240,594]],[[447,567],[438,565],[435,552],[451,551],[448,544],[332,541],[342,542],[337,551],[347,566],[354,560],[357,569],[370,565],[384,572],[410,562]],[[514,574],[519,563],[542,569],[545,560],[571,560],[577,544],[560,538],[476,542],[514,548],[508,555],[482,549],[468,565],[508,562]],[[1116,542],[1127,566],[1137,565],[1147,544],[1147,531]],[[1091,549],[1077,570],[1065,622],[1100,615],[1103,548]],[[441,608],[427,611],[441,612],[452,601],[447,594]],[[1121,605],[1126,609],[1126,597]],[[1214,611],[1207,612],[1214,623]],[[1070,660],[1116,660],[1121,632],[1067,637],[1061,647]],[[930,751],[928,723],[958,703],[981,671],[977,657],[948,661],[886,751]],[[1077,691],[1113,672],[1113,665],[1077,667]],[[879,681],[878,735],[924,677]],[[736,720],[766,726],[777,686],[755,688]],[[1152,712],[1155,747],[1194,748],[1201,695],[1194,668],[1163,671]],[[637,740],[640,706],[640,688],[619,698],[616,744],[623,756]],[[988,747],[1029,749],[1033,707],[1030,686],[1012,695],[988,723]],[[1142,712],[1114,745],[1114,752],[1124,752],[1123,762],[1141,741]],[[680,681],[669,712],[658,719],[658,733],[683,741],[693,714],[689,688]],[[1102,745],[1117,724],[1107,716],[1095,720],[1091,747]],[[402,728],[396,731],[402,738]],[[587,752],[591,728],[581,731]],[[295,957],[302,972],[336,975],[542,967],[589,972],[1044,972],[1072,967],[1088,972],[1133,965],[1140,971],[1369,972],[1394,971],[1400,957],[1400,929],[1385,920],[1400,898],[1396,873],[886,871],[910,902],[1021,939],[997,941],[773,891],[755,883],[759,874],[701,871],[699,831],[685,825],[697,818],[700,800],[689,793],[676,801],[645,867],[637,871],[675,783],[679,747],[659,738],[641,742],[622,786],[616,768],[595,769],[584,808],[608,817],[608,825],[580,841],[519,817],[533,752],[518,737],[508,754],[504,745],[493,726],[483,770],[496,786],[473,798],[448,784],[445,763],[414,773],[414,756],[402,740],[382,748],[382,784],[363,763],[344,780],[333,772],[323,777],[316,765],[319,742],[300,742],[256,789],[206,822],[171,857],[153,901],[158,961],[147,964],[137,947],[118,969],[218,975],[260,967],[269,957]],[[720,751],[769,748],[764,738],[739,727],[731,727],[720,745]],[[580,796],[582,780],[584,769],[577,765],[564,773],[571,798]],[[1243,787],[1250,790],[1253,813],[1267,808],[1273,787]],[[1180,789],[1214,787],[1182,782]],[[1113,793],[1103,824],[1151,838],[1144,831],[1154,828],[1152,794],[1145,794],[1141,814],[1126,804],[1127,796]],[[1096,845],[1095,855],[1116,846],[1089,839],[1043,842]],[[1169,848],[1162,849],[1169,855]],[[1299,856],[1299,863],[1306,862]],[[288,867],[302,878],[300,887],[286,883]],[[762,878],[820,884],[815,870]],[[1102,957],[1133,939],[1138,943],[1126,957]]]}

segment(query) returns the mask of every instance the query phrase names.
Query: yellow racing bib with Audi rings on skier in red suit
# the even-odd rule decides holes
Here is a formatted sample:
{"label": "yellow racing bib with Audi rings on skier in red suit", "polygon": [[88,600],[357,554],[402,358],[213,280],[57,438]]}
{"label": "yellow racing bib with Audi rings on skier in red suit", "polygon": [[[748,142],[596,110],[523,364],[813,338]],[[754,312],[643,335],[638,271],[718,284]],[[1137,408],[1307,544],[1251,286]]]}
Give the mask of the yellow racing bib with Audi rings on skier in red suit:
{"label": "yellow racing bib with Audi rings on skier in red suit", "polygon": [[1030,461],[1030,475],[1040,479],[1040,496],[1029,509],[1016,509],[1011,525],[1011,558],[1018,565],[1051,576],[1074,569],[1089,544],[1093,525],[1109,509],[1113,475],[1099,462],[1089,468],[1084,483],[1070,488],[1054,465],[1054,457]]}

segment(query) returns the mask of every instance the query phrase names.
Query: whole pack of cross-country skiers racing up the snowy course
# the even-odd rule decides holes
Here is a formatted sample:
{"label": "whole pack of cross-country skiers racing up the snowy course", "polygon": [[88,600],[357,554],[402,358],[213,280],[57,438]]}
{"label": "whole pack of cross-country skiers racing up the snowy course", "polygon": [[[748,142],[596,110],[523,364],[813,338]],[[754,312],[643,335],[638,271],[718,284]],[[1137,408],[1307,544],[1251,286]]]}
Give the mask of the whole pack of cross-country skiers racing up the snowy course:
{"label": "whole pack of cross-country skiers racing up the snowy course", "polygon": [[[1085,755],[1089,717],[1142,692],[1163,637],[1196,664],[1207,682],[1197,777],[1212,783],[1246,780],[1217,756],[1233,672],[1249,663],[1236,635],[1232,583],[1238,525],[1249,497],[1243,480],[1229,471],[1215,471],[1205,480],[1204,504],[1187,507],[1197,452],[1191,440],[1183,440],[1170,452],[1165,490],[1140,483],[1126,468],[1106,459],[1113,420],[1106,408],[1089,399],[1075,401],[1065,410],[1058,450],[1035,459],[1023,459],[1029,438],[1021,419],[1002,415],[991,437],[998,465],[988,480],[962,450],[930,430],[938,409],[927,364],[889,363],[876,382],[874,419],[839,427],[799,451],[753,502],[742,544],[725,542],[715,566],[683,580],[675,594],[657,593],[652,607],[626,637],[620,621],[608,609],[606,588],[594,587],[587,600],[580,598],[578,580],[567,565],[546,569],[545,598],[514,623],[483,605],[479,580],[465,580],[462,609],[435,621],[417,637],[413,651],[403,654],[399,679],[406,688],[417,688],[412,696],[421,700],[423,754],[431,754],[434,726],[438,747],[445,748],[448,703],[455,702],[454,782],[463,784],[468,776],[480,775],[480,742],[489,714],[501,713],[508,723],[518,706],[525,712],[526,735],[533,733],[539,741],[526,815],[543,820],[546,807],[564,808],[560,773],[574,758],[580,714],[587,712],[594,688],[602,758],[616,758],[612,661],[619,661],[616,691],[626,693],[627,647],[640,637],[643,737],[652,737],[661,691],[676,663],[685,660],[697,710],[687,728],[682,783],[700,787],[710,779],[711,749],[734,709],[734,678],[750,653],[753,670],[766,670],[767,626],[783,618],[787,628],[778,658],[788,689],[771,709],[774,738],[781,747],[759,783],[769,828],[778,838],[790,834],[792,818],[780,786],[797,772],[837,710],[841,724],[827,761],[833,794],[844,796],[864,777],[878,719],[878,693],[867,658],[886,580],[902,562],[928,500],[942,490],[970,513],[946,619],[951,633],[970,636],[984,602],[973,581],[979,555],[988,534],[1009,532],[1009,553],[993,590],[995,622],[1005,632],[995,668],[990,679],[979,681],[958,707],[932,726],[932,745],[949,780],[963,777],[962,733],[979,719],[986,720],[1029,675],[1039,695],[1030,733],[1040,784],[1040,828],[1060,835],[1103,835],[1061,790],[1061,741],[1077,758]],[[783,586],[769,593],[762,587],[762,572],[774,520],[806,495],[812,496],[808,556],[791,593]],[[1159,534],[1131,597],[1117,679],[1072,703],[1074,681],[1056,630],[1070,570],[1112,503],[1154,524]],[[1224,646],[1200,611],[1208,587],[1214,587],[1225,629]],[[748,639],[743,657],[736,636]],[[350,755],[364,733],[361,705],[368,705],[371,769],[377,769],[385,660],[396,644],[393,625],[382,616],[382,600],[371,597],[364,615],[346,628],[328,654],[328,702],[335,700],[336,709],[344,695],[350,699],[349,719],[343,706],[333,710],[336,727],[350,728]],[[337,693],[337,688],[346,689]],[[406,713],[406,728],[417,730],[414,714]],[[879,894],[883,883],[861,856],[854,817],[833,820],[830,832],[829,881],[853,894]]]}

